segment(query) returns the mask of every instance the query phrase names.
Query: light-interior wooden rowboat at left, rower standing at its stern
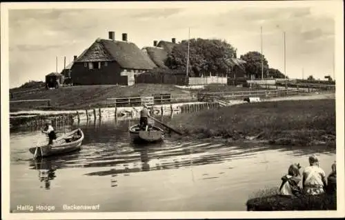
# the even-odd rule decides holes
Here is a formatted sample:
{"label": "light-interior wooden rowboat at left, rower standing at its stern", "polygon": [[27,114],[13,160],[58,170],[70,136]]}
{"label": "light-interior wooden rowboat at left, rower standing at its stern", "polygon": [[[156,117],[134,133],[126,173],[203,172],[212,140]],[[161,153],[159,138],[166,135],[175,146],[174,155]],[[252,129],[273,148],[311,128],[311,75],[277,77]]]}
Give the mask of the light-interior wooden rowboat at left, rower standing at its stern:
{"label": "light-interior wooden rowboat at left, rower standing at its stern", "polygon": [[61,137],[58,137],[52,145],[37,146],[29,151],[34,157],[49,157],[57,154],[66,154],[81,149],[81,142],[84,139],[83,131],[80,128],[72,130]]}

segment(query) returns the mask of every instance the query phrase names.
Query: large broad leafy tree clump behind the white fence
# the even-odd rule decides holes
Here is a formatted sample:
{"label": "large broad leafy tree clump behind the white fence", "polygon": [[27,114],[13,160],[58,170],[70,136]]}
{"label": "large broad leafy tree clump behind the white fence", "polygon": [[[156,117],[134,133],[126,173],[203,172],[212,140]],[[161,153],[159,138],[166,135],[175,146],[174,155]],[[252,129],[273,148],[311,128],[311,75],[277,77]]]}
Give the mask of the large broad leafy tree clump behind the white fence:
{"label": "large broad leafy tree clump behind the white fence", "polygon": [[[231,58],[236,57],[236,49],[226,41],[219,39],[190,39],[189,41],[189,66],[190,77],[200,77],[201,74],[222,74],[230,72],[233,67]],[[172,48],[168,54],[166,66],[172,70],[187,69],[188,41],[181,41]]]}

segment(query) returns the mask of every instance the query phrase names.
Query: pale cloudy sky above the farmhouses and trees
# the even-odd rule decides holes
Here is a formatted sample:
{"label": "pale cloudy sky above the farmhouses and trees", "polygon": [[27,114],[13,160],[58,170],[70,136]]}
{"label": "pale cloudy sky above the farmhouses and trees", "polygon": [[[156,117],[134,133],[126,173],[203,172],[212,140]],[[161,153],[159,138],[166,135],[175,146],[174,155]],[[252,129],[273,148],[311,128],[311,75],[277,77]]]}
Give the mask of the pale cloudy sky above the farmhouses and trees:
{"label": "pale cloudy sky above the farmhouses and trees", "polygon": [[[97,38],[128,34],[139,48],[154,40],[224,39],[237,48],[238,57],[262,51],[268,65],[289,78],[313,75],[333,77],[335,7],[337,1],[295,2],[146,2],[59,4],[8,10],[10,88],[29,80],[44,81],[46,74],[63,70]],[[48,8],[47,8],[48,7]],[[82,8],[81,8],[82,7]],[[52,9],[54,8],[54,9]]]}

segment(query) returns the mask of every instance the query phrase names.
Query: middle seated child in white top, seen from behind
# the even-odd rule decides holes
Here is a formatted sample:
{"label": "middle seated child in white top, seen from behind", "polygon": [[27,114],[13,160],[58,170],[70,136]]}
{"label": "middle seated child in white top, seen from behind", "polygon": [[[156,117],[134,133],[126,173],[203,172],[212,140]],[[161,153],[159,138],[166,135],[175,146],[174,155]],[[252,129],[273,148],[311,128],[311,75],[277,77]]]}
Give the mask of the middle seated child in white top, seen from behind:
{"label": "middle seated child in white top, seen from behind", "polygon": [[305,194],[317,195],[325,192],[326,174],[319,168],[319,159],[316,155],[309,157],[310,166],[303,171],[303,192]]}

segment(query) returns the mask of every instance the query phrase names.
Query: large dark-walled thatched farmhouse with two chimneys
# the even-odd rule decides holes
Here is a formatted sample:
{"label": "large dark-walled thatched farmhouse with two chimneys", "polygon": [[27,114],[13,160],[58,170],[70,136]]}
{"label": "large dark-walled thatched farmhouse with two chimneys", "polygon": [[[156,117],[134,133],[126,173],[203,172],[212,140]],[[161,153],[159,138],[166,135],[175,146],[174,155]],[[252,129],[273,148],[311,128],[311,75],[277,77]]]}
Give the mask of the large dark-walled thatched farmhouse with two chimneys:
{"label": "large dark-walled thatched farmhouse with two chimneys", "polygon": [[157,67],[135,43],[128,40],[126,33],[122,41],[115,39],[115,32],[109,32],[109,39],[96,39],[74,61],[71,71],[73,84],[134,84],[134,75]]}

